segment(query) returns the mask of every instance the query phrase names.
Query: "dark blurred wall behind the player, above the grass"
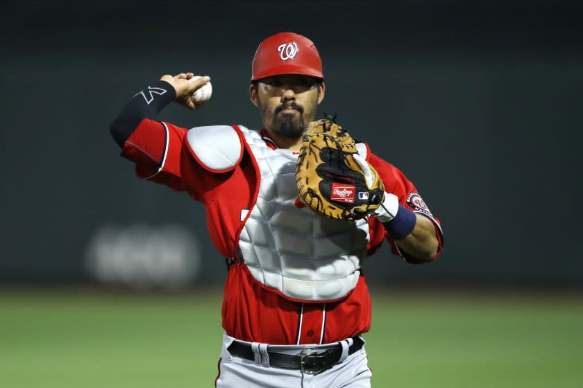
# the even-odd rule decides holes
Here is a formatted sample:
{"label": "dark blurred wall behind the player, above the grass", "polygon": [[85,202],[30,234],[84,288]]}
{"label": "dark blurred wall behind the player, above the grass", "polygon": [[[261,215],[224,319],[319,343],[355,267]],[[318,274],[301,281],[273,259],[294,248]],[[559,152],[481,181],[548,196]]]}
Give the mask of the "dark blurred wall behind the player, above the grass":
{"label": "dark blurred wall behind the player, above the grass", "polygon": [[96,236],[140,225],[192,233],[196,281],[222,281],[202,206],[137,179],[108,126],[149,82],[194,71],[212,77],[212,100],[160,118],[260,128],[251,59],[293,30],[323,58],[319,114],[337,112],[442,221],[437,263],[386,246],[364,265],[371,283],[576,285],[583,28],[570,4],[5,3],[0,281],[88,280]]}

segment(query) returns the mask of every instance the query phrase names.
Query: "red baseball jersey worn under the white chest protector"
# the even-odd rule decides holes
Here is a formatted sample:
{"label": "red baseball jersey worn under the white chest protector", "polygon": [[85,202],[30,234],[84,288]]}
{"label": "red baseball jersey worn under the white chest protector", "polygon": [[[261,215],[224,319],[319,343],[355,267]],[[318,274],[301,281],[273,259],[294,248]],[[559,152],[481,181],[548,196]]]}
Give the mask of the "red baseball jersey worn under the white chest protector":
{"label": "red baseball jersey worn under the white chest protector", "polygon": [[[205,206],[207,226],[219,253],[230,257],[237,252],[239,233],[244,227],[242,209],[251,209],[260,180],[253,153],[242,152],[233,169],[210,170],[190,152],[187,129],[170,123],[144,119],[124,144],[123,157],[136,164],[138,177],[187,191]],[[245,143],[240,131],[239,137]],[[265,136],[265,132],[262,132]],[[276,148],[273,141],[265,142]],[[408,209],[423,213],[435,225],[441,252],[441,229],[418,191],[396,167],[367,152],[367,161],[377,170],[385,191],[399,198]],[[237,193],[237,195],[233,195]],[[403,256],[376,218],[369,218],[367,254],[378,251],[383,240],[393,254]],[[414,258],[405,260],[415,262]],[[267,344],[323,344],[354,337],[370,329],[371,299],[364,273],[355,288],[339,301],[293,301],[258,281],[246,265],[232,265],[225,283],[222,308],[223,328],[238,340]]]}

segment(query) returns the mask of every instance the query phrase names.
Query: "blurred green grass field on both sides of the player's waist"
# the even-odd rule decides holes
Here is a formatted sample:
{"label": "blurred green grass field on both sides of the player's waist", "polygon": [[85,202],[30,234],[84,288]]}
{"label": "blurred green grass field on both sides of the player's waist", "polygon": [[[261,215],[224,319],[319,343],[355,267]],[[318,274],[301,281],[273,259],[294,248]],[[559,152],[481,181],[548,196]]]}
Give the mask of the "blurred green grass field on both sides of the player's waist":
{"label": "blurred green grass field on both sides of the player's waist", "polygon": [[[373,294],[365,335],[373,387],[583,387],[582,302]],[[214,387],[220,308],[218,292],[4,290],[0,386]]]}

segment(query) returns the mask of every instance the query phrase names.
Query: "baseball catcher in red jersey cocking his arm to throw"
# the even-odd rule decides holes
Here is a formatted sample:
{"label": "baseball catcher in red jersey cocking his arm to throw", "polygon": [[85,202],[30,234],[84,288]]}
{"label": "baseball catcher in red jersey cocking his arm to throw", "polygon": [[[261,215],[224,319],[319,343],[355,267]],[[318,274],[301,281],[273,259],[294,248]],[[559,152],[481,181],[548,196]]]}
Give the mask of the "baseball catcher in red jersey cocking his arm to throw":
{"label": "baseball catcher in red jersey cocking his arm to throw", "polygon": [[[304,127],[326,85],[316,46],[278,33],[255,53],[249,96],[264,123],[178,127],[156,121],[171,101],[201,107],[210,81],[162,76],[129,101],[110,131],[138,177],[186,191],[205,206],[228,264],[217,387],[370,387],[364,340],[371,298],[360,263],[384,240],[409,263],[434,261],[442,234],[414,184],[357,143],[384,183],[374,213],[335,220],[309,209],[294,182]],[[344,194],[344,191],[341,192]]]}

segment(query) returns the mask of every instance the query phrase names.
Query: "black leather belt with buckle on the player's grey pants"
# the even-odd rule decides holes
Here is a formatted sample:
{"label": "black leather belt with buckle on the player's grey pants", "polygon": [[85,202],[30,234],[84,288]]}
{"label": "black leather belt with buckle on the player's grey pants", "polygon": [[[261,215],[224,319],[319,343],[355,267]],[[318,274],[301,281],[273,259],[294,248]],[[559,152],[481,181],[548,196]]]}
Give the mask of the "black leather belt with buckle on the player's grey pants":
{"label": "black leather belt with buckle on the player's grey pants", "polygon": [[[353,337],[353,344],[348,348],[348,355],[362,349],[364,341],[360,337]],[[229,345],[227,351],[231,355],[236,355],[246,360],[255,360],[255,354],[250,344],[242,344],[234,341]],[[269,365],[271,367],[283,369],[301,369],[303,373],[318,374],[332,368],[342,355],[342,346],[337,344],[333,348],[327,349],[323,353],[309,353],[305,355],[289,355],[267,351],[269,355]]]}

